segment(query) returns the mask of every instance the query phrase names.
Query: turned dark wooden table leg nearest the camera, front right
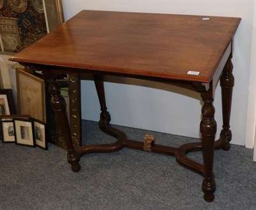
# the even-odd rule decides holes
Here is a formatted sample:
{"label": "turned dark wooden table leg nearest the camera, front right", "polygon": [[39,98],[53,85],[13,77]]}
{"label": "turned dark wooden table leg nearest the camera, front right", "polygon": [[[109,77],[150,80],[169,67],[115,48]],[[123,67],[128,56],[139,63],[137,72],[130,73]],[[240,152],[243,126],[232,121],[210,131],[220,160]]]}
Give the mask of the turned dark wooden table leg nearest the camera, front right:
{"label": "turned dark wooden table leg nearest the camera, front right", "polygon": [[214,200],[214,191],[216,190],[212,167],[214,157],[214,140],[217,124],[214,119],[215,110],[212,105],[212,89],[202,93],[201,96],[204,101],[204,105],[202,107],[202,121],[200,123],[200,131],[202,133],[202,150],[205,170],[202,190],[204,191],[204,199],[207,202],[211,202]]}

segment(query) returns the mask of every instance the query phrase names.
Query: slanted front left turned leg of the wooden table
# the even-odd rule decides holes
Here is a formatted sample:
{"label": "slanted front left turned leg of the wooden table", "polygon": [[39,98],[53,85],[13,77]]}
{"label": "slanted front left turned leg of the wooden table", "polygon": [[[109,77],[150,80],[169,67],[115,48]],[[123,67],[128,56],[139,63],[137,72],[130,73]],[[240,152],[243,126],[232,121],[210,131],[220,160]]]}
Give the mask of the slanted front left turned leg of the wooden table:
{"label": "slanted front left turned leg of the wooden table", "polygon": [[62,135],[66,141],[68,154],[67,160],[71,165],[71,169],[74,172],[78,172],[81,169],[79,165],[79,154],[75,152],[74,146],[72,144],[72,137],[70,132],[70,127],[68,124],[66,102],[60,93],[60,87],[58,86],[56,79],[47,79],[49,82],[49,93],[51,93],[51,107],[56,116],[56,122],[61,122]]}

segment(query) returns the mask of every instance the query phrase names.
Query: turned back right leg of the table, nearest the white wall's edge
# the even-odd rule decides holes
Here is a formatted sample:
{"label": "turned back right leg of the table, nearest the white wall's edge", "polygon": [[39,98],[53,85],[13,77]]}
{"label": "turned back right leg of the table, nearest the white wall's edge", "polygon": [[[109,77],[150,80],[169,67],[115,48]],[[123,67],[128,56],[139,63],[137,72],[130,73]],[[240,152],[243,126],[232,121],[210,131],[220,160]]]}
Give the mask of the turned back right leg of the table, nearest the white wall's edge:
{"label": "turned back right leg of the table, nearest the white wall's edge", "polygon": [[230,112],[231,112],[231,102],[232,102],[232,90],[234,87],[234,76],[232,74],[233,64],[231,61],[231,56],[228,58],[227,63],[223,69],[220,86],[221,86],[221,99],[222,99],[222,116],[223,116],[223,129],[220,133],[220,138],[225,139],[225,145],[222,147],[224,150],[230,149],[230,140],[232,139],[232,133],[230,128]]}

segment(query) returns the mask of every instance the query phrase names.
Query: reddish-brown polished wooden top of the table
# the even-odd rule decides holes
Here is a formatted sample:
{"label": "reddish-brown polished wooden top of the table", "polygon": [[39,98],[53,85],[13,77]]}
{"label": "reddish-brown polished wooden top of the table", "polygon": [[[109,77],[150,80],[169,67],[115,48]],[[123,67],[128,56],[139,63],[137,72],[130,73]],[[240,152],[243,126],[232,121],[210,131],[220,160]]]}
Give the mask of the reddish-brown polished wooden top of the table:
{"label": "reddish-brown polished wooden top of the table", "polygon": [[11,60],[77,72],[211,82],[240,21],[83,10]]}

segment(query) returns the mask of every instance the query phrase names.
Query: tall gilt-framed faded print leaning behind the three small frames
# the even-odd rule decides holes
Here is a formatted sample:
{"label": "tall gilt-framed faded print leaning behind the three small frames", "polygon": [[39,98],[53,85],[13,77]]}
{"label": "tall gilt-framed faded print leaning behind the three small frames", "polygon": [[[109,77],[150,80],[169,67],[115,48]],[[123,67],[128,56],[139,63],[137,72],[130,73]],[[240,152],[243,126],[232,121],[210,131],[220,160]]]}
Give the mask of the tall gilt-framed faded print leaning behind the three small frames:
{"label": "tall gilt-framed faded print leaning behind the three small frames", "polygon": [[19,114],[46,122],[45,80],[19,68],[16,69],[16,78]]}

